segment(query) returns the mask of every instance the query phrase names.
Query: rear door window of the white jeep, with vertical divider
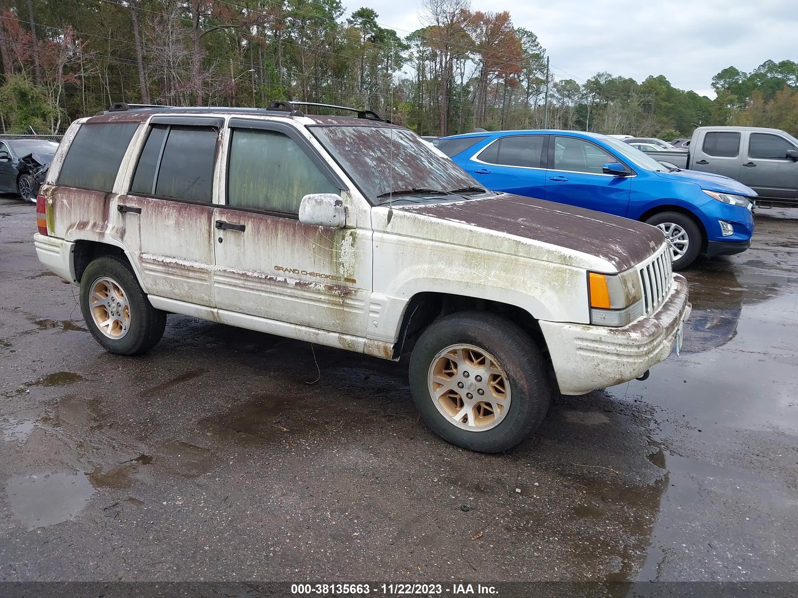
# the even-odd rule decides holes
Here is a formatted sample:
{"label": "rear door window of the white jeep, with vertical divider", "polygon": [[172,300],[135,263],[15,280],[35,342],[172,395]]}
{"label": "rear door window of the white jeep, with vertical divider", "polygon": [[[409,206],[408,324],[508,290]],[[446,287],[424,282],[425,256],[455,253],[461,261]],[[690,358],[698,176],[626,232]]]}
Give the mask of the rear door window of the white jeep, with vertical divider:
{"label": "rear door window of the white jeep, with vertical divider", "polygon": [[153,125],[130,191],[211,203],[217,137],[213,127]]}

